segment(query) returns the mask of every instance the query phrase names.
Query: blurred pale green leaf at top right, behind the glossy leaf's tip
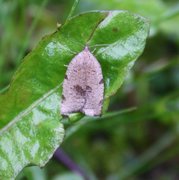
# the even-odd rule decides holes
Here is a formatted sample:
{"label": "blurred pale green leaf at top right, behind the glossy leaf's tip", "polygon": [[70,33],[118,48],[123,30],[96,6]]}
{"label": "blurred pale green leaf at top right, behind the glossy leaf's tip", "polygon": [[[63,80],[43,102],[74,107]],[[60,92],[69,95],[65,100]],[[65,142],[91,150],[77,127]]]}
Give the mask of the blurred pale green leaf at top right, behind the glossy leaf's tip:
{"label": "blurred pale green leaf at top right, behind the glossy leaf's tip", "polygon": [[[167,1],[167,0],[166,0]],[[170,3],[170,4],[169,4]],[[169,5],[168,5],[169,4]],[[168,4],[162,0],[83,0],[79,4],[79,11],[89,9],[123,9],[133,13],[138,13],[151,22],[150,35],[157,33],[173,34],[175,38],[179,38],[177,31],[179,19],[179,4],[175,1],[169,1]]]}

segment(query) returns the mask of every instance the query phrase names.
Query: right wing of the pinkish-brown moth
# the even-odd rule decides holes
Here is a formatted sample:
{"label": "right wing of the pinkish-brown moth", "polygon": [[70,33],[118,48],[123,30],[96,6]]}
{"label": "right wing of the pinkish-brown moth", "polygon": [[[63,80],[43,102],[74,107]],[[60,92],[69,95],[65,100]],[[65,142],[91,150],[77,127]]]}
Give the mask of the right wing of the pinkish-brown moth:
{"label": "right wing of the pinkish-brown moth", "polygon": [[83,112],[89,116],[98,116],[102,111],[104,99],[104,82],[99,62],[90,51],[86,61],[86,103]]}

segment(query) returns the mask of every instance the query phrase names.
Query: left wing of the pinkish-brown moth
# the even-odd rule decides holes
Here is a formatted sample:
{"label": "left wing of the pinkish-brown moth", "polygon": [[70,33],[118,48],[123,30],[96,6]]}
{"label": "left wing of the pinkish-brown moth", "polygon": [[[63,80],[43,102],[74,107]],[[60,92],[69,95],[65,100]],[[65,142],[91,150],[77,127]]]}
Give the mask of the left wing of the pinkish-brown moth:
{"label": "left wing of the pinkish-brown moth", "polygon": [[75,87],[83,88],[85,83],[85,70],[83,68],[83,52],[76,55],[69,63],[65,79],[63,82],[61,114],[68,115],[73,112],[81,111],[85,99],[77,93]]}

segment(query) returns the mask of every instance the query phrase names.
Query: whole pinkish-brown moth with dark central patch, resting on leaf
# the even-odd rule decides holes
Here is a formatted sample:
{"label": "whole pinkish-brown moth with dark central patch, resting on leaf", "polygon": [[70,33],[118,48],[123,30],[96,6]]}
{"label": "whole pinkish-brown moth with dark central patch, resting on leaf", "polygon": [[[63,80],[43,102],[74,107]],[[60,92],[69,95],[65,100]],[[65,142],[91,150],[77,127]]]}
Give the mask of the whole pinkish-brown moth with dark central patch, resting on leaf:
{"label": "whole pinkish-brown moth with dark central patch, resting on leaf", "polygon": [[88,47],[69,63],[63,82],[61,114],[82,112],[88,116],[101,114],[104,82],[99,62]]}

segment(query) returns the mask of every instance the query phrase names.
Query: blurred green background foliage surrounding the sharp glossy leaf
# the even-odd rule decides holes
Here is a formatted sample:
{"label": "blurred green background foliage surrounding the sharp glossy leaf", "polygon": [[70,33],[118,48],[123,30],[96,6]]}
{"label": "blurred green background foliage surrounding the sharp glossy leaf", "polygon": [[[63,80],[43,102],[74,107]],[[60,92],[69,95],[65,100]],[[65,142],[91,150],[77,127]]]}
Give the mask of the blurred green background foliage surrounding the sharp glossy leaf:
{"label": "blurred green background foliage surrounding the sharp glossy leaf", "polygon": [[[9,84],[21,56],[64,22],[72,3],[0,0],[0,89]],[[63,149],[91,179],[179,179],[178,1],[82,0],[76,13],[92,9],[127,9],[151,21],[145,51],[109,108],[136,110],[77,124]],[[26,168],[19,179],[60,179],[68,173],[71,177],[52,159],[43,170]]]}

